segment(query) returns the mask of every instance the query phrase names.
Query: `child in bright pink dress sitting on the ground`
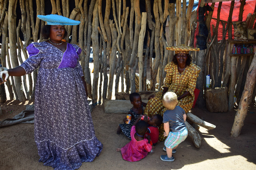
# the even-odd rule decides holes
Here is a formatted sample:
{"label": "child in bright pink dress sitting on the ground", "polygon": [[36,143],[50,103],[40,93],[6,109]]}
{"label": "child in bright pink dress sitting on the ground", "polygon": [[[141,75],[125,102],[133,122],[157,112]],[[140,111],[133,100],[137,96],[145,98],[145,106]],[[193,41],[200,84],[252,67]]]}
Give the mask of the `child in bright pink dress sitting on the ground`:
{"label": "child in bright pink dress sitting on the ground", "polygon": [[[141,116],[140,116],[141,117]],[[140,117],[131,127],[131,141],[116,151],[121,151],[124,160],[135,162],[139,161],[151,151],[150,136],[145,136],[147,131],[147,123],[140,120]],[[147,138],[147,139],[146,139]]]}

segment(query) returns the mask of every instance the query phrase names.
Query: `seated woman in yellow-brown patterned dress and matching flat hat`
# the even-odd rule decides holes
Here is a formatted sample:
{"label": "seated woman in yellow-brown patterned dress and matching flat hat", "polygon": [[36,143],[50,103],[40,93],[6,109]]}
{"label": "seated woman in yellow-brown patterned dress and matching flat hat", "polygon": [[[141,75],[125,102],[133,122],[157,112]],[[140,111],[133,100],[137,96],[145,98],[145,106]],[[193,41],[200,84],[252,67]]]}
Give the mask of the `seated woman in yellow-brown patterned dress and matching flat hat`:
{"label": "seated woman in yellow-brown patterned dress and matching flat hat", "polygon": [[[155,94],[154,97],[149,99],[145,108],[145,114],[152,116],[154,114],[160,114],[167,110],[163,106],[163,95],[167,91],[172,91],[178,96],[178,104],[189,112],[194,102],[194,89],[196,87],[196,79],[200,73],[200,68],[195,64],[192,64],[192,58],[189,55],[189,51],[196,50],[198,48],[192,48],[185,45],[167,47],[168,50],[175,50],[175,56],[173,61],[165,66],[166,77],[162,91]],[[163,141],[163,124],[159,127],[159,140]]]}

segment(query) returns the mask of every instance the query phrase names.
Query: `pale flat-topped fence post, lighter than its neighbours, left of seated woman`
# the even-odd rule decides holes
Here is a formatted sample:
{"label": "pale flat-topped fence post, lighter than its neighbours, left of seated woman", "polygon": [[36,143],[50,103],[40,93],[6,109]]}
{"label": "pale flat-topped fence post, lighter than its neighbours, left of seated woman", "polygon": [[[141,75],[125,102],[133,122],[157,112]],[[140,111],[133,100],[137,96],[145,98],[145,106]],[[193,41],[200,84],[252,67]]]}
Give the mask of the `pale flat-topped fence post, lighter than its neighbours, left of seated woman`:
{"label": "pale flat-topped fence post, lighter than its neighbours, left of seated woman", "polygon": [[143,75],[143,69],[144,69],[144,62],[143,62],[143,43],[144,43],[144,37],[146,32],[146,25],[147,25],[147,13],[143,12],[141,17],[141,31],[139,33],[139,42],[138,42],[138,58],[139,58],[139,91],[143,90],[144,86],[144,75]]}

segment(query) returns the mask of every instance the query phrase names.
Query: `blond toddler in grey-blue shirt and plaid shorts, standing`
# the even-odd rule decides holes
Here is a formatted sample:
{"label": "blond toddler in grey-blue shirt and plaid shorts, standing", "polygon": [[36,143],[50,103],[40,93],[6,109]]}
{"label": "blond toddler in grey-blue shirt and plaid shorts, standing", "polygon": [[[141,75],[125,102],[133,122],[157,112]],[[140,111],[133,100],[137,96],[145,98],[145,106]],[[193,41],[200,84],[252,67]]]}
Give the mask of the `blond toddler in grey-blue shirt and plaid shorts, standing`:
{"label": "blond toddler in grey-blue shirt and plaid shorts, standing", "polygon": [[[173,92],[167,92],[163,96],[163,105],[167,111],[163,114],[165,147],[167,155],[161,155],[163,161],[174,161],[172,153],[176,153],[176,148],[188,136],[188,130],[185,124],[187,115],[183,108],[176,106],[178,103],[177,95]],[[171,129],[171,131],[170,131]]]}

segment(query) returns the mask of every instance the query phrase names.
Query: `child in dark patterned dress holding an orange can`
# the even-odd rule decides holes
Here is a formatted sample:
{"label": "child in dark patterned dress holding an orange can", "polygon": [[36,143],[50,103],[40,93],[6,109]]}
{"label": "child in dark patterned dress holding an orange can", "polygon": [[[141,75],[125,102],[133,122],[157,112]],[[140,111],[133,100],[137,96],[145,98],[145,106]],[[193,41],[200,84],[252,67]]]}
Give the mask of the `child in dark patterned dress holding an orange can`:
{"label": "child in dark patterned dress holding an orange can", "polygon": [[125,134],[129,139],[131,139],[131,127],[135,120],[139,118],[139,116],[143,115],[143,106],[146,106],[147,103],[144,103],[141,101],[141,96],[139,93],[131,93],[129,96],[131,104],[133,104],[133,107],[129,110],[128,114],[131,114],[131,122],[130,124],[126,124],[127,118],[125,117],[123,119],[123,124],[119,124],[117,126],[117,134]]}

